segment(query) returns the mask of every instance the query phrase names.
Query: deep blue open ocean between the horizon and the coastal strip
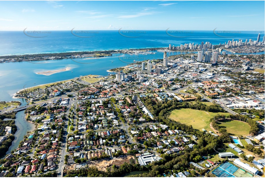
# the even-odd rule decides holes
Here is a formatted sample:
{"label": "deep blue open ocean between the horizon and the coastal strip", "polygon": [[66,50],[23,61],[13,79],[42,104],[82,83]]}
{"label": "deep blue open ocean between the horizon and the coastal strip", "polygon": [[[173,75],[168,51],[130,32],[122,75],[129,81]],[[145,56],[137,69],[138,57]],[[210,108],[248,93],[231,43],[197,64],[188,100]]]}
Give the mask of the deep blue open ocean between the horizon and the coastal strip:
{"label": "deep blue open ocean between the horizon and the coastal strip", "polygon": [[[74,51],[118,50],[132,48],[167,47],[169,43],[180,46],[184,43],[212,44],[228,40],[260,40],[264,32],[259,31],[42,31],[30,33],[23,31],[0,31],[0,55],[59,53]],[[219,36],[218,36],[219,35]],[[79,37],[78,37],[79,36]],[[126,37],[127,36],[127,37]],[[221,37],[220,37],[221,36]],[[39,37],[39,38],[36,38]],[[88,37],[88,38],[85,38]]]}

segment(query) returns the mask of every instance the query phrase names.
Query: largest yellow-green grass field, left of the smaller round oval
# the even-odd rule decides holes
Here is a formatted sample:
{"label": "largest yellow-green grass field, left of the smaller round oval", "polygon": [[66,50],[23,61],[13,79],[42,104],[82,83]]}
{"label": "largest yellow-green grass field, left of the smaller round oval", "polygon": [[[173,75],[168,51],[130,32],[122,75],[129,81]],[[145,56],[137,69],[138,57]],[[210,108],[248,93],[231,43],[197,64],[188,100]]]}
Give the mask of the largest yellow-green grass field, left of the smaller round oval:
{"label": "largest yellow-green grass field, left of the smaller round oval", "polygon": [[182,124],[192,125],[193,128],[198,130],[204,128],[207,131],[213,131],[210,128],[209,120],[216,114],[229,115],[230,113],[213,113],[195,109],[176,109],[170,112],[169,118]]}

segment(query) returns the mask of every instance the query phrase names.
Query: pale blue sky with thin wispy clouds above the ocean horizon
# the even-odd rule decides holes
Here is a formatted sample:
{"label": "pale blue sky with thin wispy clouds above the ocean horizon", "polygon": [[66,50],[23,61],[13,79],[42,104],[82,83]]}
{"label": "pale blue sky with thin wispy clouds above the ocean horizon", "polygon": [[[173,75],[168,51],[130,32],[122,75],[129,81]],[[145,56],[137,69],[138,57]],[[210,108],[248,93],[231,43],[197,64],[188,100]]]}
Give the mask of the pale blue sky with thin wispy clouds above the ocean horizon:
{"label": "pale blue sky with thin wispy clouds above the ocean horizon", "polygon": [[0,1],[0,30],[264,31],[264,1]]}

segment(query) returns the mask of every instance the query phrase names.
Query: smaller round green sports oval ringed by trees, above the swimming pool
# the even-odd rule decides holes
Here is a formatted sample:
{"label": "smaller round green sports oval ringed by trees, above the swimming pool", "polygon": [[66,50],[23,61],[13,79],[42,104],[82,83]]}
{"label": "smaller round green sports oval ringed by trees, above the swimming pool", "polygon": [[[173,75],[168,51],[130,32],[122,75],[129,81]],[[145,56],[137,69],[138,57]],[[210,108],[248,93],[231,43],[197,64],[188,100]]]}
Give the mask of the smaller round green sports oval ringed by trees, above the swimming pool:
{"label": "smaller round green sports oval ringed by trees, above the swimming pool", "polygon": [[[220,123],[220,124],[219,124]],[[250,126],[249,124],[237,120],[222,120],[222,122],[217,123],[220,127],[227,130],[229,135],[248,135]]]}

